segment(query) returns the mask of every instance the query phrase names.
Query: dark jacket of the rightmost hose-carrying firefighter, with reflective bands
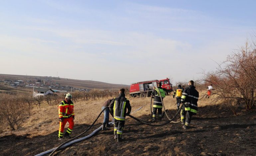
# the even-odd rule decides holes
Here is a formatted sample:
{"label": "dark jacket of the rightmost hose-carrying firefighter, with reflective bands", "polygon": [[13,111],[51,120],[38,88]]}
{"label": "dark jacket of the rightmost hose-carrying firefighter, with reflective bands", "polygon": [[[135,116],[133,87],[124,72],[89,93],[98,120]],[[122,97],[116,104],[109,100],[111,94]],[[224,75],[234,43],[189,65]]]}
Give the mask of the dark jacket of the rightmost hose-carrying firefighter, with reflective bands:
{"label": "dark jacket of the rightmost hose-carrying firefighter, with reflective bands", "polygon": [[193,114],[197,113],[197,101],[199,93],[195,90],[195,86],[189,85],[182,93],[181,102],[185,103],[185,111]]}

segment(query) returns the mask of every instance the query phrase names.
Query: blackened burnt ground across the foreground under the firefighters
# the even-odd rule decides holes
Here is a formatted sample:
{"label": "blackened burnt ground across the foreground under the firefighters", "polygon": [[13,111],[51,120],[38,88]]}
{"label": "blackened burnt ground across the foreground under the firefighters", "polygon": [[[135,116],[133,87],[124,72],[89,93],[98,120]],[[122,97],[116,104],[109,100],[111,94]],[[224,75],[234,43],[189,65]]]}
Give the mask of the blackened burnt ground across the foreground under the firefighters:
{"label": "blackened burnt ground across the foreground under the firefighters", "polygon": [[[174,110],[168,111],[170,116],[174,113]],[[123,142],[113,139],[113,127],[110,127],[55,155],[256,155],[256,112],[239,108],[238,113],[239,116],[234,116],[224,105],[200,107],[188,130],[184,130],[181,123],[151,127],[127,117]],[[139,118],[148,120],[150,115]],[[90,132],[99,126],[93,126]],[[75,125],[72,135],[78,135],[87,127],[89,125]],[[57,131],[32,138],[4,136],[0,138],[0,155],[36,155],[66,141],[59,141],[57,137]]]}

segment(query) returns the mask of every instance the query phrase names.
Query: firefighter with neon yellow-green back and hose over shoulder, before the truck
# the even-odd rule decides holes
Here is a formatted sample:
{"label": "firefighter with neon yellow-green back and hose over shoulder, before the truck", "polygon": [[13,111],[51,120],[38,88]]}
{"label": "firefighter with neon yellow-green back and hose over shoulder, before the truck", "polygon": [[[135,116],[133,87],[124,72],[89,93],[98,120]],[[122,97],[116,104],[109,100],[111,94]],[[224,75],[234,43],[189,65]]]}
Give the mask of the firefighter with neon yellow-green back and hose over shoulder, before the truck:
{"label": "firefighter with neon yellow-green back and hose over shoulder, before the truck", "polygon": [[158,110],[158,117],[159,120],[162,120],[162,108],[163,104],[161,101],[160,94],[162,96],[162,100],[165,98],[165,91],[162,89],[162,83],[160,82],[158,84],[158,87],[152,92],[152,97],[154,96],[154,103],[153,103],[153,118],[152,121],[154,122],[156,120],[157,110]]}

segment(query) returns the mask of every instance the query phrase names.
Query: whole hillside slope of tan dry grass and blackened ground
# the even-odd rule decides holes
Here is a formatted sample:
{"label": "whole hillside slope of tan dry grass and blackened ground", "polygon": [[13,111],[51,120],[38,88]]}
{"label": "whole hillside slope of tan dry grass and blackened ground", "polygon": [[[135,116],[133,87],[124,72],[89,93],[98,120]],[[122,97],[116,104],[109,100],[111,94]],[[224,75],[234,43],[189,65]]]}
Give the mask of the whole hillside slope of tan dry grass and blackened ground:
{"label": "whole hillside slope of tan dry grass and blackened ground", "polygon": [[[151,116],[150,98],[128,97],[128,99],[132,106],[131,115],[148,121]],[[80,134],[89,127],[100,113],[101,104],[105,100],[107,99],[75,103],[75,126],[72,136]],[[176,99],[172,96],[164,99],[170,117],[176,112],[175,102]],[[141,110],[134,112],[143,105],[145,106]],[[11,131],[8,126],[4,126],[0,137],[0,155],[36,155],[66,141],[67,139],[58,140],[57,107],[58,104],[54,106],[44,104],[41,109],[34,106],[32,116],[19,130]],[[198,107],[198,114],[192,117],[191,127],[187,130],[182,128],[181,123],[151,127],[126,117],[123,142],[118,143],[113,139],[113,127],[109,127],[87,140],[56,152],[55,155],[255,155],[254,110],[245,111],[239,106],[238,116],[234,116],[227,106],[213,105],[211,99],[199,100]],[[85,135],[98,128],[102,120],[103,115]],[[167,120],[164,117],[162,122]]]}

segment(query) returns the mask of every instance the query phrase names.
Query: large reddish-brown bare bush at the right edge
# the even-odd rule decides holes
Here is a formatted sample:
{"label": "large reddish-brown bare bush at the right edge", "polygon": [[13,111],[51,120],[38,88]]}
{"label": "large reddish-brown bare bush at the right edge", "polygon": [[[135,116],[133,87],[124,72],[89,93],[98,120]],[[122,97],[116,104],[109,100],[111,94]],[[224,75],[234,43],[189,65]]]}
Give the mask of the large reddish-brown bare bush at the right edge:
{"label": "large reddish-brown bare bush at the right edge", "polygon": [[243,101],[246,110],[252,109],[255,105],[255,74],[256,49],[247,41],[244,47],[236,50],[226,61],[219,64],[216,71],[206,74],[205,81],[214,85],[214,101],[227,102],[236,115],[234,104],[239,101]]}

